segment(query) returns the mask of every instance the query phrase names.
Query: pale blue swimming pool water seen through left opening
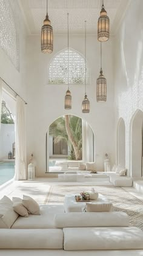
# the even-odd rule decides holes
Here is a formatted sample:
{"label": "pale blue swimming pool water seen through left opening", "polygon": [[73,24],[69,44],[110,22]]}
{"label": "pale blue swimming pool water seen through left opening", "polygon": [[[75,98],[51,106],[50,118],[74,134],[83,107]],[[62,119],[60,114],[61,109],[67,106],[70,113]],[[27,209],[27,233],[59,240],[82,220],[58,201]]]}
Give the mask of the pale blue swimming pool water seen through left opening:
{"label": "pale blue swimming pool water seen through left opening", "polygon": [[15,162],[0,162],[0,185],[12,179],[15,175]]}

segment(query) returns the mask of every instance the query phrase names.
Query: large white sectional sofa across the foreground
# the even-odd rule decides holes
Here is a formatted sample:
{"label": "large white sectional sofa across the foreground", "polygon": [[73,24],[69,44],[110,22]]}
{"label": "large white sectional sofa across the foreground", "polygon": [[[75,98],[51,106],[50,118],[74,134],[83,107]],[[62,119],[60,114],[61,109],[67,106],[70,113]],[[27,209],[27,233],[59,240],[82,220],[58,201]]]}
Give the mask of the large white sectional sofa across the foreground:
{"label": "large white sectional sofa across the foreground", "polygon": [[47,249],[61,252],[58,255],[62,251],[93,255],[96,250],[143,249],[143,232],[130,227],[126,213],[65,213],[64,206],[56,205],[40,206],[40,212],[22,217],[9,209],[5,216],[1,214],[5,227],[0,229],[0,249]]}

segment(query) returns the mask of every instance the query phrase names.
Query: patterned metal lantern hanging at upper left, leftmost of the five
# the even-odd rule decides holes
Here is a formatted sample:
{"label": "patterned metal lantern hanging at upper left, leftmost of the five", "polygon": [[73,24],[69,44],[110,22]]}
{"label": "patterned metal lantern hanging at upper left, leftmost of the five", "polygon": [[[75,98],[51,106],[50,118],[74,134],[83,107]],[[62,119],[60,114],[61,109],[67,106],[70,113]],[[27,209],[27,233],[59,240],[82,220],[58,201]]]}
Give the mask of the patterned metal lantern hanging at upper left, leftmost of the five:
{"label": "patterned metal lantern hanging at upper left, leftmost of the five", "polygon": [[53,52],[53,27],[50,19],[46,15],[44,25],[41,30],[41,51],[44,54],[51,54]]}

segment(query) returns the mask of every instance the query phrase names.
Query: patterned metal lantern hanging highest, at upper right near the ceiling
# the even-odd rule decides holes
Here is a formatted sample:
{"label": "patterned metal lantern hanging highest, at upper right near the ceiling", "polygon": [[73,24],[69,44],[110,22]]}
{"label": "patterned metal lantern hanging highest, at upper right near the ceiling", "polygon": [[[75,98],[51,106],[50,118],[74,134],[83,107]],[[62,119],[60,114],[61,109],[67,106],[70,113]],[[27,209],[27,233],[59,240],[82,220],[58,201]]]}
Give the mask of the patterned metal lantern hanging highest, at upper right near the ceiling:
{"label": "patterned metal lantern hanging highest, at upper right near the ceiling", "polygon": [[102,5],[100,17],[98,19],[98,41],[105,42],[109,39],[110,35],[110,19],[107,16],[107,12]]}

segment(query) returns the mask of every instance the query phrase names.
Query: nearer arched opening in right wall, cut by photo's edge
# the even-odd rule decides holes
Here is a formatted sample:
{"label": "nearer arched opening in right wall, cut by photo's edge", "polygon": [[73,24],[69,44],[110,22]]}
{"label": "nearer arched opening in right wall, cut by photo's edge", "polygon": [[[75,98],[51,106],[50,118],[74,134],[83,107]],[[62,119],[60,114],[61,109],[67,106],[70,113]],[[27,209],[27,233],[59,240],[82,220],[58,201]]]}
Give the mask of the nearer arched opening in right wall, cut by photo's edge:
{"label": "nearer arched opening in right wall, cut by photo's edge", "polygon": [[130,125],[130,170],[132,178],[142,177],[142,123],[143,112],[138,109]]}

